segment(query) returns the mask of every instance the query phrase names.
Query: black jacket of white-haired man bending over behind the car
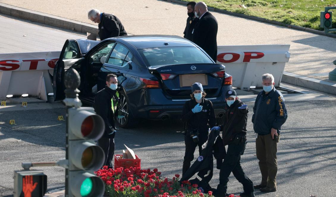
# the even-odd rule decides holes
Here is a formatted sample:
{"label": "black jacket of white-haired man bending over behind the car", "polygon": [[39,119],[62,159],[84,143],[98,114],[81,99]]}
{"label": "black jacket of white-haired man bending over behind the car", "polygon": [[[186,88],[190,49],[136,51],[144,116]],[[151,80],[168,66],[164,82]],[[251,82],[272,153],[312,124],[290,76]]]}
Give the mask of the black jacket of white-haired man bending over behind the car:
{"label": "black jacket of white-haired man bending over behind the car", "polygon": [[98,35],[100,40],[107,38],[127,36],[124,26],[117,16],[101,13],[101,20],[98,24]]}

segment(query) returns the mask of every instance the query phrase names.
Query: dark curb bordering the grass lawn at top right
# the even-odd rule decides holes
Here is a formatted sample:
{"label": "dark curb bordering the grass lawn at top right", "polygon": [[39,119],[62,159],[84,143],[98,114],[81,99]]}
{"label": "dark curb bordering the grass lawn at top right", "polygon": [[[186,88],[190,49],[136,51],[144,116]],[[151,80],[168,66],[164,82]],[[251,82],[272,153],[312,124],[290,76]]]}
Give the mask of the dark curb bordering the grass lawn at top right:
{"label": "dark curb bordering the grass lawn at top right", "polygon": [[[164,1],[178,3],[178,4],[181,4],[181,5],[186,5],[188,3],[187,1],[181,1],[181,0],[164,0]],[[278,21],[275,21],[275,20],[268,20],[268,19],[265,19],[265,18],[257,17],[257,16],[248,16],[248,15],[245,15],[245,14],[229,12],[229,11],[226,11],[226,10],[223,10],[223,9],[217,9],[217,8],[213,8],[213,7],[208,7],[208,10],[223,13],[223,14],[238,16],[238,17],[241,17],[241,18],[247,18],[247,19],[251,19],[251,20],[265,22],[265,23],[269,23],[269,24],[284,26],[284,27],[288,27],[288,28],[292,28],[292,29],[296,29],[296,30],[307,31],[307,32],[311,32],[313,34],[319,34],[319,35],[322,35],[322,36],[328,36],[328,37],[336,38],[336,34],[330,34],[330,33],[325,33],[323,31],[316,30],[316,29],[285,24],[285,23],[282,23],[282,22],[278,22]]]}

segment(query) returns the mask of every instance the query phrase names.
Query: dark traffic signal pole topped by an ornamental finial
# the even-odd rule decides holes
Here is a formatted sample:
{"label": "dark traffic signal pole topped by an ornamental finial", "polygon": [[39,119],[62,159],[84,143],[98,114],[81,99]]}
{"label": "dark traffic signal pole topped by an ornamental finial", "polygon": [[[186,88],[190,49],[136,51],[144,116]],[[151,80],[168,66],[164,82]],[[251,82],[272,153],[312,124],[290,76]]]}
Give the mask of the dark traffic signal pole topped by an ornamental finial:
{"label": "dark traffic signal pole topped by an ornamental finial", "polygon": [[[80,92],[77,87],[79,87],[81,83],[81,78],[78,72],[70,68],[67,70],[64,76],[64,85],[66,89],[65,92],[65,100],[63,102],[67,106],[67,129],[66,129],[66,159],[68,158],[68,125],[69,125],[69,118],[68,118],[68,110],[72,107],[80,108],[82,106],[82,102],[78,98],[78,93]],[[69,188],[68,188],[68,169],[65,170],[65,196],[69,195]]]}

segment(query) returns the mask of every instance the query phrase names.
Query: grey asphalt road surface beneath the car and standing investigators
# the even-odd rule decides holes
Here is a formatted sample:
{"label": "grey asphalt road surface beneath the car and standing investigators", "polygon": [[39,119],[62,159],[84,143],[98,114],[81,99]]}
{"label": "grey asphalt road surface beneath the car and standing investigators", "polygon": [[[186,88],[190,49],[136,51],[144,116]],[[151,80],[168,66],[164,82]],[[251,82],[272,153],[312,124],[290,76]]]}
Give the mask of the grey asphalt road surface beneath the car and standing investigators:
{"label": "grey asphalt road surface beneath the car and standing investigators", "polygon": [[[57,161],[65,157],[66,121],[64,107],[56,104],[53,109],[0,110],[0,196],[13,191],[13,171],[20,170],[24,161]],[[252,109],[253,102],[247,102]],[[331,196],[336,194],[336,101],[289,101],[286,102],[288,119],[281,133],[278,146],[278,191],[257,196]],[[242,156],[242,166],[247,176],[256,184],[261,177],[255,156],[255,134],[251,117],[248,120],[248,143]],[[16,125],[9,125],[15,119]],[[117,132],[115,153],[125,149],[134,150],[141,158],[143,169],[158,168],[164,177],[181,174],[184,155],[183,127],[178,120],[141,121],[134,129]],[[20,141],[19,141],[20,140]],[[197,158],[195,152],[195,158]],[[48,189],[64,186],[64,169],[40,167],[48,176]],[[214,170],[210,182],[216,187],[219,170]],[[239,194],[242,185],[231,175],[228,192]]]}

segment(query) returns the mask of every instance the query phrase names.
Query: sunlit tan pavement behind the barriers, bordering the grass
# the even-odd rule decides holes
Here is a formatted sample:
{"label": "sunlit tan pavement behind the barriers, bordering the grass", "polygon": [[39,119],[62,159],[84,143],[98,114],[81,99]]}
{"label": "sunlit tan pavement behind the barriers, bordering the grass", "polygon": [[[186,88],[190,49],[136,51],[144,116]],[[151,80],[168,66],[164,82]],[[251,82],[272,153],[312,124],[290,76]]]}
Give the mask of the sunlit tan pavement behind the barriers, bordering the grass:
{"label": "sunlit tan pavement behind the barriers, bordering the grass", "polygon": [[[47,5],[44,0],[0,0],[0,2],[86,23],[91,22],[87,19],[87,11],[97,8],[102,12],[117,15],[126,31],[135,35],[183,36],[187,17],[185,6],[160,0],[96,0],[95,4],[92,1],[58,0],[47,1]],[[286,64],[285,71],[327,80],[328,73],[335,68],[332,64],[336,59],[335,38],[212,13],[218,20],[218,45],[290,44],[291,58]]]}

